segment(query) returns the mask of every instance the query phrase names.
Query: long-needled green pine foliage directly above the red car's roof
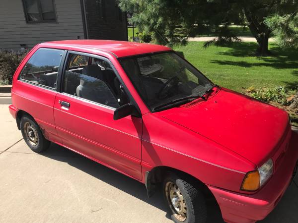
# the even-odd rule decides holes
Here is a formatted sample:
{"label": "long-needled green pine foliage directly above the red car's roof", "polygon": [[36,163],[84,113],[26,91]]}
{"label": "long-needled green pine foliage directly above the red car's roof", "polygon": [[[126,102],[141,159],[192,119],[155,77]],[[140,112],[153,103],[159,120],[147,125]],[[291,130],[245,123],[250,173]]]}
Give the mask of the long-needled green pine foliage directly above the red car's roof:
{"label": "long-needled green pine foliage directly above the red car's roof", "polygon": [[[195,35],[193,24],[205,17],[206,0],[120,0],[123,11],[133,13],[130,23],[140,32],[150,34],[158,44],[185,44],[188,37]],[[187,19],[185,19],[187,18]],[[179,24],[179,25],[177,25]]]}

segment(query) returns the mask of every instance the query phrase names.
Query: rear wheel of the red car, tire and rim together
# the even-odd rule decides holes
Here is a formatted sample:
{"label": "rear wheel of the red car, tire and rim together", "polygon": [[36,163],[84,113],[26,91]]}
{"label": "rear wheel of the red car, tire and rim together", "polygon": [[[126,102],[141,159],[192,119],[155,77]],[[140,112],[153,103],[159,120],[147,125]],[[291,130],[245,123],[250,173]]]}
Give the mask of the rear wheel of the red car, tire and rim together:
{"label": "rear wheel of the red car, tire and rim together", "polygon": [[[21,117],[21,132],[23,135],[23,138],[26,142],[26,144],[30,147],[30,149],[35,152],[35,153],[41,153],[48,149],[50,146],[50,141],[47,140],[44,135],[42,134],[39,125],[35,122],[35,120],[27,114],[24,114]],[[30,139],[29,133],[27,131],[27,128],[29,128],[30,131],[29,133],[34,140]],[[37,140],[35,140],[37,138]]]}

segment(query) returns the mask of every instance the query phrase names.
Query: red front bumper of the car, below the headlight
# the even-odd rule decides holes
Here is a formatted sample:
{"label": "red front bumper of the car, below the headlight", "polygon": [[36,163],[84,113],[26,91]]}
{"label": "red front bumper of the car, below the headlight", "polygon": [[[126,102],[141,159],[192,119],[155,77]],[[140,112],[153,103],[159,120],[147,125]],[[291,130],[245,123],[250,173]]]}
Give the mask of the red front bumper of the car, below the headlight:
{"label": "red front bumper of the car, below the headlight", "polygon": [[255,194],[241,194],[208,186],[227,223],[254,223],[264,219],[277,205],[293,180],[298,161],[298,134],[292,132],[283,164]]}

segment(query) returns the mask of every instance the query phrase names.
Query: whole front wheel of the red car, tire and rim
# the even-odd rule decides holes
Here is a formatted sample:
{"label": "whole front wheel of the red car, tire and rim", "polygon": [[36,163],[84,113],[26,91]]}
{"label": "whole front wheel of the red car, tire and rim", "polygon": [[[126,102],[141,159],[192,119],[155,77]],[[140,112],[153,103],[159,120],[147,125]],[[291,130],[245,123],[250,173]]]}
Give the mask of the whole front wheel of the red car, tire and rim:
{"label": "whole front wheel of the red car, tire and rim", "polygon": [[175,223],[206,223],[204,195],[191,183],[168,174],[163,182],[164,198]]}

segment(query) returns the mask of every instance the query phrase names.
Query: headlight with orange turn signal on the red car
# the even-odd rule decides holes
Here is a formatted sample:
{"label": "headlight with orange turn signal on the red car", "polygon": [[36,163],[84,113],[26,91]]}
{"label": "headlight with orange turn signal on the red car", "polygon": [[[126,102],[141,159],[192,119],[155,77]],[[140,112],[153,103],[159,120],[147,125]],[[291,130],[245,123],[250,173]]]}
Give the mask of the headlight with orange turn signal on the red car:
{"label": "headlight with orange turn signal on the red car", "polygon": [[241,186],[241,190],[255,191],[259,189],[272,176],[272,173],[273,173],[273,161],[272,159],[269,159],[258,170],[248,172],[245,175]]}

